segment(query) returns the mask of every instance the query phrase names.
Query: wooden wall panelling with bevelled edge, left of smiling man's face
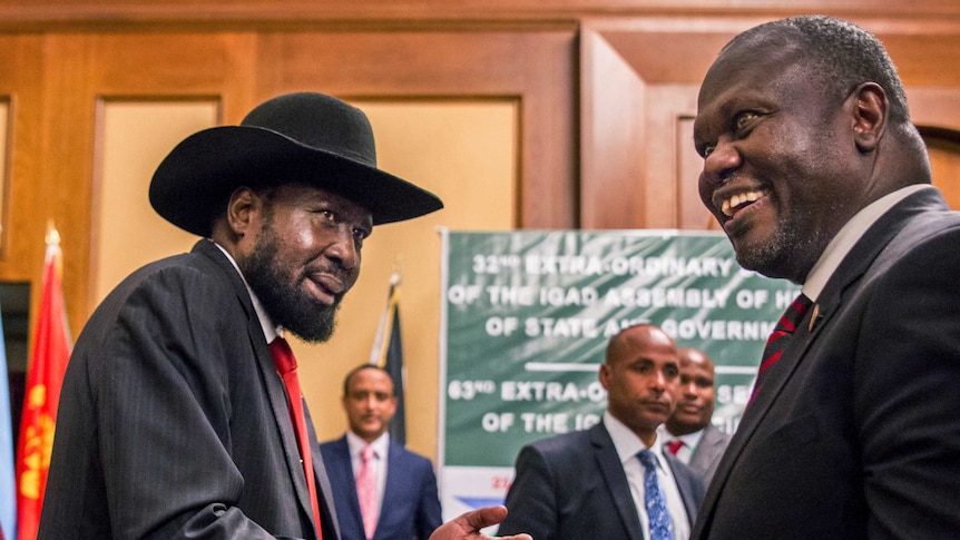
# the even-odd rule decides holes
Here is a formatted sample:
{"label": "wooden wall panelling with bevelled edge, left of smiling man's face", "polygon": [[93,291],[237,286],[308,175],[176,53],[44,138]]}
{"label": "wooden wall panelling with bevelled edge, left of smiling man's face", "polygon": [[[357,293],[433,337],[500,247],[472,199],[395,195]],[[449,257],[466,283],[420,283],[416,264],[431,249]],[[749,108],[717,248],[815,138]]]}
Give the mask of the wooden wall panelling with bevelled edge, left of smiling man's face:
{"label": "wooden wall panelling with bevelled edge, left of smiling man's face", "polygon": [[689,188],[696,176],[680,177],[690,171],[693,146],[682,129],[696,116],[697,88],[713,51],[733,36],[718,27],[659,19],[585,23],[584,228],[706,226],[706,210]]}

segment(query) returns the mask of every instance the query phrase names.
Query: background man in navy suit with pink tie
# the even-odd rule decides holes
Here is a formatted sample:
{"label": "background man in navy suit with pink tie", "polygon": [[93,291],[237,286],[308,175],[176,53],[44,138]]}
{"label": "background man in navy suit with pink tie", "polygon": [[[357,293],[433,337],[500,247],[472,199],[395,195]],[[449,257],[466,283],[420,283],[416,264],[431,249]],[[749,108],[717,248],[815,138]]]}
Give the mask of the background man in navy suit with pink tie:
{"label": "background man in navy suit with pink tie", "polygon": [[[351,370],[343,381],[343,410],[350,429],[320,445],[333,485],[333,501],[343,540],[425,540],[442,522],[437,477],[430,460],[391,442],[388,426],[396,412],[390,373],[373,364]],[[375,485],[371,516],[357,493],[364,449]],[[371,528],[371,530],[365,530]]]}

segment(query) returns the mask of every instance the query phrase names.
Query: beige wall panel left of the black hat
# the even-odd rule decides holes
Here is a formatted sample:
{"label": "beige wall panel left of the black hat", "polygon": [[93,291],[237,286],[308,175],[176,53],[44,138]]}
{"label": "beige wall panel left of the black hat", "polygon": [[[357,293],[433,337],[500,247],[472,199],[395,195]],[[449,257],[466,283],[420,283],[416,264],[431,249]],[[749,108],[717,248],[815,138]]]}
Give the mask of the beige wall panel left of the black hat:
{"label": "beige wall panel left of the black hat", "polygon": [[98,232],[94,302],[146,263],[188,252],[197,237],[170,225],[147,192],[160,160],[188,135],[217,124],[215,101],[107,101],[102,175],[94,219]]}

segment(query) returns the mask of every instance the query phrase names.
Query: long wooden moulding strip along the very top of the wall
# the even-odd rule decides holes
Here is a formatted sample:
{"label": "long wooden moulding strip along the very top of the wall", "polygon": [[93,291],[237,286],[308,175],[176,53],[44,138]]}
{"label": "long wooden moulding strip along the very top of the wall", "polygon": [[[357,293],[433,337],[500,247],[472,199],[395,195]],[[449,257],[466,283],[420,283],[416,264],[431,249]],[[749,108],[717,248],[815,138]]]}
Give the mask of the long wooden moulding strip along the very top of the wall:
{"label": "long wooden moulding strip along the very top of the wall", "polygon": [[357,27],[391,24],[451,26],[478,20],[498,23],[550,23],[578,17],[682,16],[739,11],[782,17],[802,11],[846,18],[891,19],[957,17],[956,0],[3,0],[0,28],[81,26],[87,29],[131,24],[232,26],[317,24]]}

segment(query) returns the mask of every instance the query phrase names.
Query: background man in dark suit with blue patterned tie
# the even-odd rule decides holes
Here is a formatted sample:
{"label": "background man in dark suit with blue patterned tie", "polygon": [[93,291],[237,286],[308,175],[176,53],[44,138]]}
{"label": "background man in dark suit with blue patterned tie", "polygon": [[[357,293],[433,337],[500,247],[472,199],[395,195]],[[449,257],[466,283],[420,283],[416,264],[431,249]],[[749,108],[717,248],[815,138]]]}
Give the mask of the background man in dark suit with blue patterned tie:
{"label": "background man in dark suit with blue patterned tie", "polygon": [[[664,455],[657,428],[674,408],[679,369],[673,340],[649,324],[614,336],[600,365],[607,390],[601,423],[525,446],[507,493],[510,513],[500,531],[537,540],[652,538],[641,451],[657,462],[670,537],[684,540],[696,517],[703,485],[683,463]],[[656,529],[656,527],[654,527]],[[657,538],[656,536],[654,538]]]}

